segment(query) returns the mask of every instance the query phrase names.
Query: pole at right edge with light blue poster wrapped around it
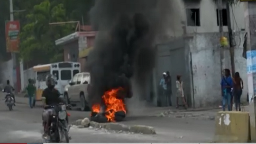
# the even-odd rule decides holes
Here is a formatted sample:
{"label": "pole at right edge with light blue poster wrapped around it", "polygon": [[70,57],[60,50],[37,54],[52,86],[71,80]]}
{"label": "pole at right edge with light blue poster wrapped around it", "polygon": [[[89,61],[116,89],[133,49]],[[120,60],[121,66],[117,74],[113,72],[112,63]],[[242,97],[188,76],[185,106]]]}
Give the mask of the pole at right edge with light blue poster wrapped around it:
{"label": "pole at right edge with light blue poster wrapped around it", "polygon": [[[248,99],[249,99],[249,113],[250,113],[250,134],[251,143],[256,143],[256,71],[253,69],[256,66],[256,62],[253,60],[256,57],[255,47],[251,47],[256,43],[255,34],[250,32],[255,31],[255,18],[254,12],[256,7],[255,1],[248,1],[244,3],[244,17],[245,28],[247,32],[247,84],[248,84]],[[250,5],[250,6],[249,6]]]}

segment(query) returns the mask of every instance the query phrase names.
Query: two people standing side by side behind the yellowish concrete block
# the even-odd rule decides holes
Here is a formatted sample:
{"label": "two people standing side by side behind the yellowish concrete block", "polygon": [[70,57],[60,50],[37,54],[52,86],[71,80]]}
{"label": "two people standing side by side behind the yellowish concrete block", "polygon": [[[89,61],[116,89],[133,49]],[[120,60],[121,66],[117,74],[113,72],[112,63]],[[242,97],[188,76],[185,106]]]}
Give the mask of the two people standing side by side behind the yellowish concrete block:
{"label": "two people standing side by side behind the yellowish concrete block", "polygon": [[228,110],[232,110],[233,98],[235,101],[236,110],[241,111],[241,95],[244,89],[244,83],[239,73],[236,72],[234,77],[231,77],[230,70],[224,70],[225,75],[222,77],[221,85],[221,95],[222,95],[222,110],[226,110],[226,104],[228,105]]}

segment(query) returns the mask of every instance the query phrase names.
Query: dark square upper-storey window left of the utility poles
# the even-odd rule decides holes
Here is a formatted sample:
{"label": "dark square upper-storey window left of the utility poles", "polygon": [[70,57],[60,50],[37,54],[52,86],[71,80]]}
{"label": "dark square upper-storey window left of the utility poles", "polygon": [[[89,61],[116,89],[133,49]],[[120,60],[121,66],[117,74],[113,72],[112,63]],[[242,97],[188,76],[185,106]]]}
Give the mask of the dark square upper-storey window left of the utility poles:
{"label": "dark square upper-storey window left of the utility poles", "polygon": [[187,8],[187,25],[188,26],[200,26],[200,9],[199,8]]}

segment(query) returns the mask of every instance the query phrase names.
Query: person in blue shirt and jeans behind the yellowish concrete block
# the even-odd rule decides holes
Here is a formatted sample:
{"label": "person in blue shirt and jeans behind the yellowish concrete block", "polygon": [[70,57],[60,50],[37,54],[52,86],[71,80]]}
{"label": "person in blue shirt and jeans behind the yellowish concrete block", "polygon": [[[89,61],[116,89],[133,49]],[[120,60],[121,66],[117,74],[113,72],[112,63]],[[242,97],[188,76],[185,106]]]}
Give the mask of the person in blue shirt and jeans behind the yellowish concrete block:
{"label": "person in blue shirt and jeans behind the yellowish concrete block", "polygon": [[230,76],[230,70],[225,69],[225,76],[222,77],[221,82],[221,94],[222,94],[222,110],[226,110],[226,103],[228,104],[228,110],[231,111],[231,89],[233,87],[233,79]]}

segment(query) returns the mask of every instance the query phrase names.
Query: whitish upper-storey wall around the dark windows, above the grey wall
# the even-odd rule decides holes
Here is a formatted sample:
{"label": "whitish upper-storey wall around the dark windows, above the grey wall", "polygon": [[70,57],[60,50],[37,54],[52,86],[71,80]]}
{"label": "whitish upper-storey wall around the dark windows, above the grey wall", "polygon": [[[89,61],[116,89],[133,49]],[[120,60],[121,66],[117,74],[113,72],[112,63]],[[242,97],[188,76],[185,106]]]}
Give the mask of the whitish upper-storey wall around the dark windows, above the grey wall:
{"label": "whitish upper-storey wall around the dark windows, above the grey wall", "polygon": [[[170,0],[169,21],[165,21],[169,25],[166,32],[169,36],[179,37],[183,35],[183,26],[185,26],[186,33],[215,33],[219,32],[217,25],[217,3],[215,0]],[[193,1],[193,2],[191,2]],[[161,4],[161,2],[159,2]],[[165,0],[162,3],[166,4]],[[187,26],[186,22],[186,8],[200,8],[200,22],[201,26]],[[226,5],[223,5],[226,8]],[[238,32],[245,29],[244,18],[244,3],[238,2],[230,8],[230,19],[232,30]],[[228,27],[223,27],[224,32],[228,32]]]}

